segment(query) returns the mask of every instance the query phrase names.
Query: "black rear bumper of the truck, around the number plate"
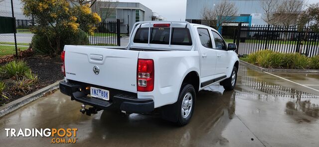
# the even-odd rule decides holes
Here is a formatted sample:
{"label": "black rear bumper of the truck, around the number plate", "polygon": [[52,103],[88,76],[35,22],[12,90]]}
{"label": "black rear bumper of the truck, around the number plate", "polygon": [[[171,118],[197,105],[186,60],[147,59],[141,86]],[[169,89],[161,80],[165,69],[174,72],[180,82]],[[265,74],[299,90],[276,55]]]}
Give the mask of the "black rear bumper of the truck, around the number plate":
{"label": "black rear bumper of the truck, around the number plate", "polygon": [[[60,91],[63,94],[71,96],[71,100],[100,108],[103,110],[109,108],[119,108],[120,110],[130,113],[147,113],[154,110],[153,99],[138,99],[126,94],[118,93],[110,96],[110,100],[102,100],[98,98],[88,97],[84,91],[80,91],[80,88],[85,89],[85,85],[76,84],[71,82],[60,82]],[[110,91],[111,93],[112,91]]]}

